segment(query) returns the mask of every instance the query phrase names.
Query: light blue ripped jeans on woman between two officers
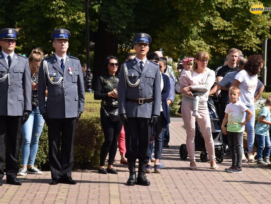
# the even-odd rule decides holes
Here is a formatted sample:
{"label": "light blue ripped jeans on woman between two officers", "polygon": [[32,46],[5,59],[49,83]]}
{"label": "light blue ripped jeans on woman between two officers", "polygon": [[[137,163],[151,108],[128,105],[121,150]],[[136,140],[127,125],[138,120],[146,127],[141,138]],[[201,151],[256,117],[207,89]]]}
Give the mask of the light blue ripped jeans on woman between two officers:
{"label": "light blue ripped jeans on woman between two officers", "polygon": [[34,165],[38,152],[39,139],[42,133],[44,119],[40,114],[39,107],[32,110],[28,120],[22,125],[22,164]]}

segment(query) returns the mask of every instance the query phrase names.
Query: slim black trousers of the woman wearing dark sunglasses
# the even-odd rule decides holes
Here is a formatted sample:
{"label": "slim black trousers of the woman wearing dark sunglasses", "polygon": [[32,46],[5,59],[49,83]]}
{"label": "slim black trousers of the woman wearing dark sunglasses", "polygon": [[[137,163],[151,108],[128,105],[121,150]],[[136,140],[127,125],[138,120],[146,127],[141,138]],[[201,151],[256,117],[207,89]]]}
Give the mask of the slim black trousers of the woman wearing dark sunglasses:
{"label": "slim black trousers of the woman wearing dark sunglasses", "polygon": [[108,165],[113,165],[117,150],[117,140],[122,128],[122,122],[112,122],[106,113],[101,110],[101,126],[104,134],[104,142],[100,150],[100,166],[104,166],[107,154]]}

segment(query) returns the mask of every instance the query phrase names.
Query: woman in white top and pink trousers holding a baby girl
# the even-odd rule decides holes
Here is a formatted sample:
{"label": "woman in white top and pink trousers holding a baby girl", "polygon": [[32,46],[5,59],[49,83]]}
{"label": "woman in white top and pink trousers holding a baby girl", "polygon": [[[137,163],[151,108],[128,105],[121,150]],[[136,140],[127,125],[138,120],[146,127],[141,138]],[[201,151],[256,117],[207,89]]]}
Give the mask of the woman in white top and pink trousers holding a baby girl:
{"label": "woman in white top and pink trousers holding a baby girl", "polygon": [[[209,110],[207,107],[208,94],[211,87],[215,82],[215,72],[210,70],[207,65],[209,62],[209,54],[206,52],[199,52],[195,57],[195,65],[193,67],[192,77],[193,80],[197,80],[200,85],[190,85],[181,88],[180,84],[177,84],[175,89],[179,93],[184,93],[182,99],[182,117],[186,129],[186,145],[190,159],[190,169],[196,170],[195,160],[195,120],[197,121],[202,135],[204,137],[205,147],[211,160],[211,169],[219,169],[215,162],[214,141],[211,132],[211,121]],[[187,95],[193,96],[192,91],[198,92],[199,107],[198,112],[202,118],[195,118],[193,116],[193,98]]]}

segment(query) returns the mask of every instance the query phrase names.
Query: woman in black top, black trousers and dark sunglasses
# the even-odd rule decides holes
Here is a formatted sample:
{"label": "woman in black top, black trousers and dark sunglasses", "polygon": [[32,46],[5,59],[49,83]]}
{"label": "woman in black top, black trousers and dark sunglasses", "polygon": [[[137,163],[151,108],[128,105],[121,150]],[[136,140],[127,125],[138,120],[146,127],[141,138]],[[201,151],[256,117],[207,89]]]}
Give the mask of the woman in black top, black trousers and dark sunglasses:
{"label": "woman in black top, black trousers and dark sunglasses", "polygon": [[[94,90],[94,99],[102,100],[100,117],[101,126],[104,133],[104,142],[100,150],[100,164],[98,172],[102,174],[112,173],[117,174],[113,168],[113,162],[117,150],[117,140],[122,128],[122,122],[119,120],[111,120],[110,112],[116,110],[117,107],[117,84],[118,78],[116,71],[118,68],[118,60],[114,56],[105,58],[104,75],[98,77]],[[108,167],[105,169],[105,159],[109,153]]]}

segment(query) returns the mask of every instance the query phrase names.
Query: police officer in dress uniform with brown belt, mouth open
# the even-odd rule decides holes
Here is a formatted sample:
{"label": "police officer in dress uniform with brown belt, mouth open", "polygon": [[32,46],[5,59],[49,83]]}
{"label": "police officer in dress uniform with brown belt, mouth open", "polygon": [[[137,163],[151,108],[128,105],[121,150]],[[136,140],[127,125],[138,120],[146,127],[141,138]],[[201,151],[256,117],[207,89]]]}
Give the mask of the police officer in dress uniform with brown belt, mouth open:
{"label": "police officer in dress uniform with brown belt, mouth open", "polygon": [[[137,56],[121,65],[118,82],[118,111],[125,129],[125,157],[128,161],[127,185],[150,185],[144,173],[149,161],[152,126],[157,122],[161,107],[161,75],[159,66],[146,55],[152,38],[146,33],[133,37]],[[139,159],[136,179],[135,160]]]}

